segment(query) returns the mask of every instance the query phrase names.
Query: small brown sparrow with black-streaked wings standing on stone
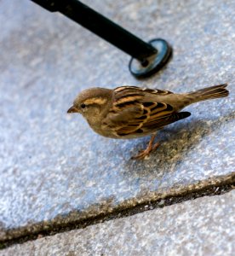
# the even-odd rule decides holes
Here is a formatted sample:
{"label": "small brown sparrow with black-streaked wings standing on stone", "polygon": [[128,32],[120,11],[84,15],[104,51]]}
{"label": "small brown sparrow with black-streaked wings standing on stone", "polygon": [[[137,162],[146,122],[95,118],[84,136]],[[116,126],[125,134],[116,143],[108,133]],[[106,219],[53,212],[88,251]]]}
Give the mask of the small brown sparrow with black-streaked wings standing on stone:
{"label": "small brown sparrow with black-streaked wings standing on stone", "polygon": [[156,131],[190,116],[182,108],[209,99],[228,96],[227,84],[215,85],[184,94],[169,90],[152,90],[137,86],[120,86],[114,90],[83,90],[67,113],[81,113],[89,126],[104,137],[130,139],[152,135],[145,150],[134,159],[145,159],[152,150]]}

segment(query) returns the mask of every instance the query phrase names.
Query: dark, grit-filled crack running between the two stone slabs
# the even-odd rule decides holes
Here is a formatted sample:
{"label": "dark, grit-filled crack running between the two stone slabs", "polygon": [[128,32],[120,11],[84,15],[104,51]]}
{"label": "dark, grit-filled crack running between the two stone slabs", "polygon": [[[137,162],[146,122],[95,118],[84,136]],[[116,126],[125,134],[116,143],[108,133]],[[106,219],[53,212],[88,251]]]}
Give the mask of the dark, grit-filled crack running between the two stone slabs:
{"label": "dark, grit-filled crack running between the two stone slabs", "polygon": [[54,224],[53,226],[49,227],[48,230],[36,230],[35,233],[25,233],[20,237],[0,241],[0,249],[9,247],[16,243],[24,243],[26,241],[36,240],[38,238],[42,238],[43,236],[53,236],[57,233],[66,232],[69,230],[84,229],[89,225],[103,223],[115,218],[125,218],[140,212],[145,212],[156,208],[168,207],[183,201],[190,201],[203,196],[223,195],[232,189],[235,189],[235,176],[232,176],[229,180],[223,181],[221,183],[209,184],[203,188],[194,189],[188,192],[180,192],[178,195],[166,195],[156,201],[141,202],[135,207],[119,210],[117,209],[115,212],[102,213],[93,218],[77,220],[67,224]]}

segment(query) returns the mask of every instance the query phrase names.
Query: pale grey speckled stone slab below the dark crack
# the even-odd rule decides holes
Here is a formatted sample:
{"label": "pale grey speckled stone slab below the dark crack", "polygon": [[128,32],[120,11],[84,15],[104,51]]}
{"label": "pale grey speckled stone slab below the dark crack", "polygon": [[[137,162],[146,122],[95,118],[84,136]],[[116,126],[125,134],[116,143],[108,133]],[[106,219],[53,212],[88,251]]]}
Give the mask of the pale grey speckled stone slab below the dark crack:
{"label": "pale grey speckled stone slab below the dark crack", "polygon": [[14,245],[0,255],[234,255],[235,190]]}

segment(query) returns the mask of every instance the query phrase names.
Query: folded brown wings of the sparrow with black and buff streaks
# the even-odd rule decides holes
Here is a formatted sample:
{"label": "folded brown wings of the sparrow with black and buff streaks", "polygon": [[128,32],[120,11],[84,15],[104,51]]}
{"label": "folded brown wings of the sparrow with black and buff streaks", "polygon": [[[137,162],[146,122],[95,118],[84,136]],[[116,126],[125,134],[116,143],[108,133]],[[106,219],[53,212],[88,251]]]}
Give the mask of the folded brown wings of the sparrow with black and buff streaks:
{"label": "folded brown wings of the sparrow with black and buff streaks", "polygon": [[115,136],[124,137],[157,131],[190,115],[188,112],[175,112],[175,109],[165,102],[147,101],[146,92],[158,96],[172,94],[168,90],[117,87],[113,92],[112,108],[103,120],[103,125],[112,130]]}

